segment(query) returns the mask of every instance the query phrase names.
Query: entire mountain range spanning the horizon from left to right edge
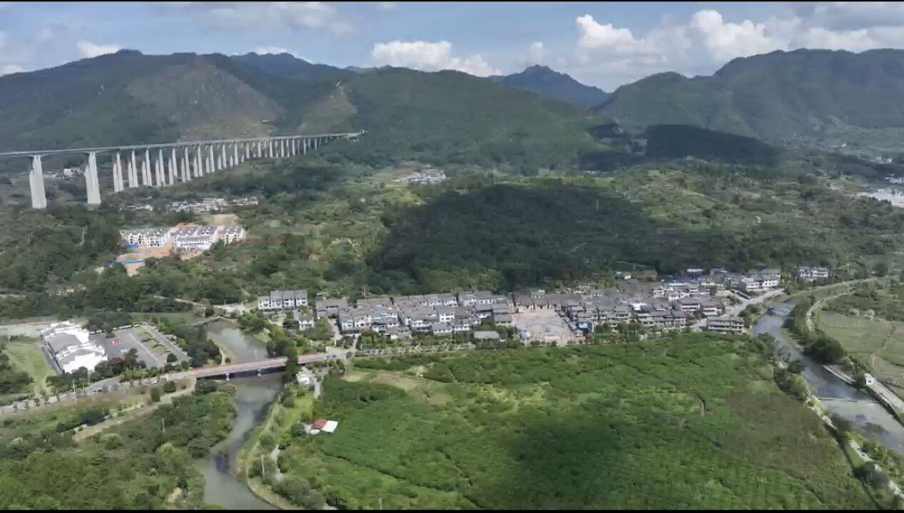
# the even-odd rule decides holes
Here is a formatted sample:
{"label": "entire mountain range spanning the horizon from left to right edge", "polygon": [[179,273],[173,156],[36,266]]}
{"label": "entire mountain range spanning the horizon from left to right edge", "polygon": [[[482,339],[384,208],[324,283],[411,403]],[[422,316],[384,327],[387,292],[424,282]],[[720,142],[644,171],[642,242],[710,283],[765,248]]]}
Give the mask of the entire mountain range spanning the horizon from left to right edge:
{"label": "entire mountain range spanning the horizon from left to right edge", "polygon": [[[904,51],[775,51],[611,95],[532,66],[337,68],[280,55],[118,51],[0,77],[0,151],[368,129],[361,158],[538,166],[605,151],[592,126],[696,126],[771,145],[897,152]],[[670,134],[673,132],[670,132]],[[363,153],[366,152],[366,155]]]}

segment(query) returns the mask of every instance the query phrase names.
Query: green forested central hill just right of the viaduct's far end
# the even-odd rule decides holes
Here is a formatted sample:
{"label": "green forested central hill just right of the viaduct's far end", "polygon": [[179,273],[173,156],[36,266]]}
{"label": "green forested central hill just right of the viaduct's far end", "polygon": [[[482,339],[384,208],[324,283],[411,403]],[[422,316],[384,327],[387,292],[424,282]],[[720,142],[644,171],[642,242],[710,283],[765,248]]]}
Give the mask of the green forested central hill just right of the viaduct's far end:
{"label": "green forested central hill just right of the viaduct's far end", "polygon": [[369,133],[343,152],[367,163],[507,163],[531,174],[598,146],[578,107],[457,71],[373,71],[349,79],[344,94],[353,125]]}

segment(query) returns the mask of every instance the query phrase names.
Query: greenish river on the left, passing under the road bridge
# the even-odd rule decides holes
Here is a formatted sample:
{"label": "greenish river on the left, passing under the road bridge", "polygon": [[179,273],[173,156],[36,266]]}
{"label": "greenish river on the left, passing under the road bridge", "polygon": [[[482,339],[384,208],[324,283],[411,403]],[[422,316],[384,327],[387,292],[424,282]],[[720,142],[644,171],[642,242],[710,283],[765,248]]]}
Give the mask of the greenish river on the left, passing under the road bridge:
{"label": "greenish river on the left, passing under the road bridge", "polygon": [[[231,322],[212,322],[205,330],[217,345],[228,349],[234,363],[253,361],[267,354],[263,341],[245,334]],[[265,374],[231,379],[230,384],[236,388],[235,424],[229,436],[213,448],[210,456],[195,463],[204,476],[204,502],[226,509],[274,509],[255,497],[233,474],[242,444],[279,395],[281,378],[281,374]]]}

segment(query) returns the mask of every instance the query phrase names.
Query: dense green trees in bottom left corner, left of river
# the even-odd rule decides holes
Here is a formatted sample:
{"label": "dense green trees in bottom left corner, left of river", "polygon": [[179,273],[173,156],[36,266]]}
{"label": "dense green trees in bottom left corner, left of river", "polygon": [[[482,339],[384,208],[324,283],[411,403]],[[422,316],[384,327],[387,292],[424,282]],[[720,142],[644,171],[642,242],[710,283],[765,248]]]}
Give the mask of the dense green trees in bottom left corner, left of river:
{"label": "dense green trees in bottom left corner, left of river", "polygon": [[201,508],[193,459],[229,432],[233,412],[228,392],[199,387],[81,443],[71,428],[102,420],[95,406],[8,419],[0,428],[0,508]]}

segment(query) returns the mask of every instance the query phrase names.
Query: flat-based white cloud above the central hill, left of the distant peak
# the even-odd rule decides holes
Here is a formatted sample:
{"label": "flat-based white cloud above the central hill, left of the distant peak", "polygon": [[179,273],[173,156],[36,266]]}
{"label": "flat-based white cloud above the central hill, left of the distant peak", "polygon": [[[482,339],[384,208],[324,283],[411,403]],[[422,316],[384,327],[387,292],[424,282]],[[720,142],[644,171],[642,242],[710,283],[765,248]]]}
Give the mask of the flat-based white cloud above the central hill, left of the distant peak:
{"label": "flat-based white cloud above the central hill, left of the distant peak", "polygon": [[377,65],[412,68],[423,71],[458,70],[485,77],[502,74],[476,53],[453,57],[452,43],[447,41],[393,41],[373,45],[371,58]]}

